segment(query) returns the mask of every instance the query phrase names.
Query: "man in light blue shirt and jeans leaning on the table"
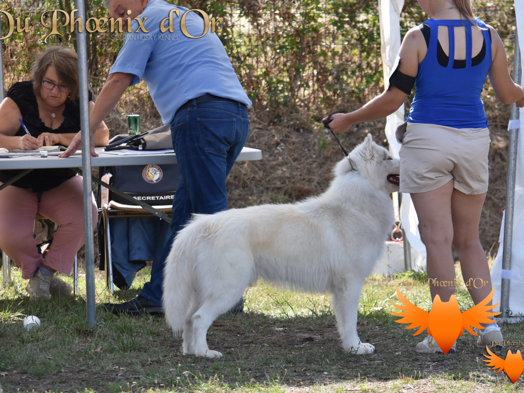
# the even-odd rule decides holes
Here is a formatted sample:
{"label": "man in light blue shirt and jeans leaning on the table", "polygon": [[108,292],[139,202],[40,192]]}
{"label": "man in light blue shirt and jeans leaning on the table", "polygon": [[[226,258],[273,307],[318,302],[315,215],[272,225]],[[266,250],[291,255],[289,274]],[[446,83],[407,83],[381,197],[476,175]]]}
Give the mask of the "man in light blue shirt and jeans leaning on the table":
{"label": "man in light blue shirt and jeans leaning on the table", "polygon": [[[191,214],[227,209],[226,178],[249,133],[251,101],[220,39],[198,12],[163,0],[104,0],[104,6],[122,19],[127,34],[91,113],[91,134],[125,90],[144,79],[162,122],[171,125],[181,173],[172,234],[161,260],[153,261],[150,282],[136,298],[107,307],[115,313],[162,313],[163,265],[174,236]],[[79,147],[80,133],[62,156]]]}

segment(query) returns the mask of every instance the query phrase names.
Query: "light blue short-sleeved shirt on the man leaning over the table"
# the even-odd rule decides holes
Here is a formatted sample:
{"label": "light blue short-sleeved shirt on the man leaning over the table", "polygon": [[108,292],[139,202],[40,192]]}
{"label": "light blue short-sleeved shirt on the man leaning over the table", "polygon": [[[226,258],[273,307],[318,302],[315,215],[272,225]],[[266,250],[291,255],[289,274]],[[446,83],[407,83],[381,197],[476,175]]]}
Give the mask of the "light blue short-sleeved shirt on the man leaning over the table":
{"label": "light blue short-sleeved shirt on the man leaning over the table", "polygon": [[[179,10],[179,16],[171,13],[173,32],[169,30],[172,9]],[[132,32],[126,34],[110,74],[135,75],[131,85],[144,79],[164,124],[173,121],[184,103],[206,93],[236,100],[249,107],[252,103],[222,42],[211,32],[211,23],[205,35],[190,38],[184,35],[180,26],[184,15],[182,27],[187,29],[186,34],[201,36],[204,19],[199,14],[163,0],[151,0],[137,17],[143,21],[144,27],[137,20],[132,21]],[[161,31],[161,25],[167,30]],[[216,28],[221,27],[217,24]]]}

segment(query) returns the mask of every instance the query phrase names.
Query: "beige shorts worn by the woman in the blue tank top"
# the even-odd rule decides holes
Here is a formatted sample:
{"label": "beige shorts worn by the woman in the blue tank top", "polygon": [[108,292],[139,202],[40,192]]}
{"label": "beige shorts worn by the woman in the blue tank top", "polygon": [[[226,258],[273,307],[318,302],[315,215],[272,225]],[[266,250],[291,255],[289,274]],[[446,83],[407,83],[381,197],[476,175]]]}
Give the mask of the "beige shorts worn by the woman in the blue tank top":
{"label": "beige shorts worn by the woman in the blue tank top", "polygon": [[400,192],[428,192],[453,179],[470,195],[488,189],[488,128],[408,123],[400,148]]}

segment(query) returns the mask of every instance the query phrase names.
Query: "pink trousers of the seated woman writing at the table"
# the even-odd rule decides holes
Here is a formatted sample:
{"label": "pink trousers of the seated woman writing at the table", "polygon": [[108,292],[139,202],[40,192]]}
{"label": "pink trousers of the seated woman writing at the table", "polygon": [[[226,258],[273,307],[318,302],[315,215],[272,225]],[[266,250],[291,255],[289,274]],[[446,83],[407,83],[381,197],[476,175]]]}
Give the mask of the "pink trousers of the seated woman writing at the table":
{"label": "pink trousers of the seated woman writing at the table", "polygon": [[[96,223],[97,208],[92,193],[91,198]],[[59,225],[46,255],[46,266],[71,274],[74,257],[84,244],[82,178],[73,176],[42,192],[40,201],[38,194],[30,189],[8,185],[0,191],[0,248],[22,269],[24,279],[32,278],[43,261],[32,236],[37,213]]]}

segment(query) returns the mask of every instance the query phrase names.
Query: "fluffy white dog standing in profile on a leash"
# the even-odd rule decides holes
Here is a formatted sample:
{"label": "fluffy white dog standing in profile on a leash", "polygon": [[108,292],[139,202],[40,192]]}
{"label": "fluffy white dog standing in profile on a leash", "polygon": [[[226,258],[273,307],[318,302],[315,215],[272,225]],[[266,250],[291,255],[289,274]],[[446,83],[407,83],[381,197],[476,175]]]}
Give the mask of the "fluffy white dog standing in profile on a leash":
{"label": "fluffy white dog standing in profile on a leash", "polygon": [[344,350],[368,354],[358,339],[357,309],[394,224],[389,194],[399,161],[371,135],[334,168],[329,189],[302,202],[195,215],[166,261],[163,309],[185,354],[221,357],[208,348],[213,321],[258,278],[331,293]]}

